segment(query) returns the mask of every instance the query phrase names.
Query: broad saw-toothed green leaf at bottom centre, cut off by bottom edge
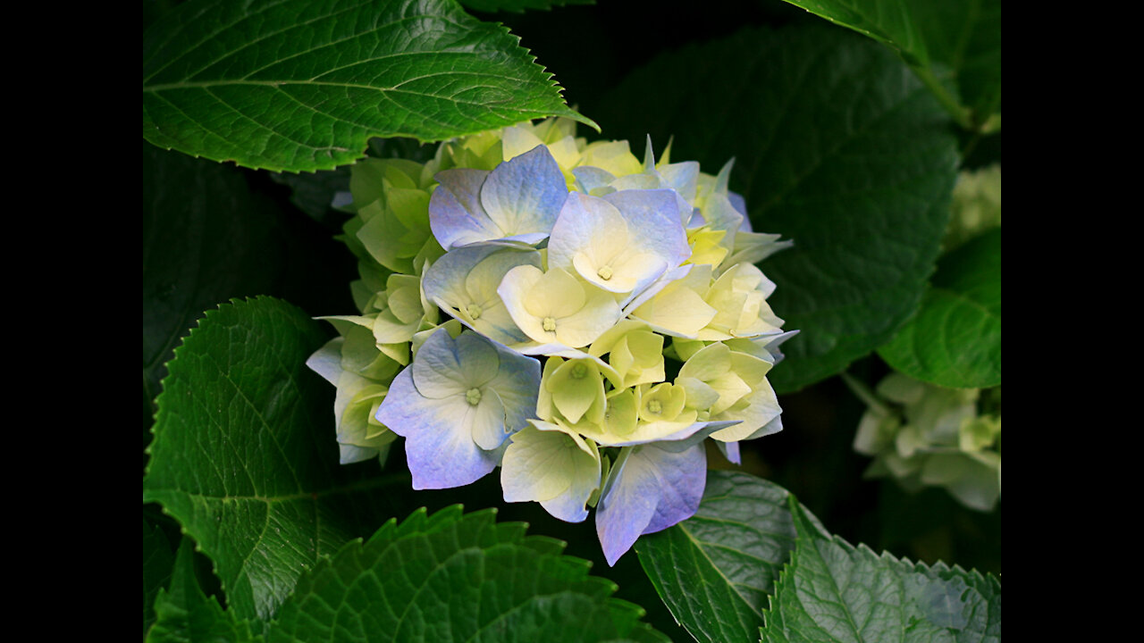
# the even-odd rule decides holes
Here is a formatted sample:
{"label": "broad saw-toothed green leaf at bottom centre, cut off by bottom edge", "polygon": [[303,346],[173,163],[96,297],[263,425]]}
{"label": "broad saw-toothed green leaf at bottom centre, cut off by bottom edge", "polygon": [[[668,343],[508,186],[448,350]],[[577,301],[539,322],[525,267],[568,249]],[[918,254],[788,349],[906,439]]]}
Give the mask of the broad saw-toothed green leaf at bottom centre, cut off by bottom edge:
{"label": "broad saw-toothed green leaf at bottom centre, cut off by bottom edge", "polygon": [[302,577],[267,640],[667,641],[587,561],[562,555],[563,542],[494,515],[419,509],[348,543]]}

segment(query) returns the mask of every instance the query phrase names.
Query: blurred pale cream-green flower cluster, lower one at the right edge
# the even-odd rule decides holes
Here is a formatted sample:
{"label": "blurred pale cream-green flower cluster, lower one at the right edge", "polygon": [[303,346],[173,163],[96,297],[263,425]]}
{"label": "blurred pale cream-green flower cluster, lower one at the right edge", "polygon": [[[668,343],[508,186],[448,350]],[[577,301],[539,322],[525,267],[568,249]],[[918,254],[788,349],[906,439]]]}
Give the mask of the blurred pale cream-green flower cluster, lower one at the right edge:
{"label": "blurred pale cream-green flower cluster, lower one at the right edge", "polygon": [[892,476],[907,491],[945,487],[991,511],[1001,498],[1001,388],[947,389],[891,373],[875,394],[851,386],[867,411],[855,451],[873,455],[867,477]]}

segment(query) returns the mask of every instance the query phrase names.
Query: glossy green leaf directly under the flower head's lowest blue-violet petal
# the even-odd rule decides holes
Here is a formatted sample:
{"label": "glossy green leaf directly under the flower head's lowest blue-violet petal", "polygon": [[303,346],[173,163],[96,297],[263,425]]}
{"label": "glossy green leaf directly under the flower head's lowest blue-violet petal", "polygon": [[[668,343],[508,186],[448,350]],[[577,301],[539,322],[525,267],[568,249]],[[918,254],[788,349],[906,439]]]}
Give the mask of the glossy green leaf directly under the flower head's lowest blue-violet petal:
{"label": "glossy green leaf directly under the flower head's lowest blue-violet petal", "polygon": [[708,471],[694,516],[636,541],[648,578],[697,641],[756,641],[766,596],[794,548],[787,497],[747,474]]}

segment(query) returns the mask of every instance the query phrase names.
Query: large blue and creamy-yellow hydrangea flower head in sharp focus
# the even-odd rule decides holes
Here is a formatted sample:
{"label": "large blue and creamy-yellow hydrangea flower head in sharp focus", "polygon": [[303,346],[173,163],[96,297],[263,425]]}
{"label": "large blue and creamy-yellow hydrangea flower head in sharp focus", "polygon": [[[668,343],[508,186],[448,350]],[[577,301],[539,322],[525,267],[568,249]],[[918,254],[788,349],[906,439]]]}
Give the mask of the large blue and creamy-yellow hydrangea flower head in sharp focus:
{"label": "large blue and creamy-yellow hydrangea flower head in sharp focus", "polygon": [[782,331],[755,267],[788,246],[694,161],[641,161],[569,120],[352,168],[360,315],[310,359],[337,387],[342,462],[402,436],[415,489],[500,467],[505,500],[596,525],[610,564],[694,514],[704,440],[781,429]]}

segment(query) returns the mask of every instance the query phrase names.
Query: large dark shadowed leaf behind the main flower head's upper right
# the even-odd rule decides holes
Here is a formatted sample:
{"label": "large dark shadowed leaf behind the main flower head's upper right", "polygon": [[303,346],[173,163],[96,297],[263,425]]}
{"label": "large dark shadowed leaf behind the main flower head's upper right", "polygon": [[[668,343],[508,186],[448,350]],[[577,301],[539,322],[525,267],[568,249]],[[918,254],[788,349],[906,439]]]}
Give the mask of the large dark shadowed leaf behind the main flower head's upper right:
{"label": "large dark shadowed leaf behind the main flower head's upper right", "polygon": [[958,153],[947,116],[884,47],[817,23],[744,30],[660,56],[604,108],[610,136],[674,136],[672,160],[715,172],[734,157],[754,229],[794,240],[761,264],[776,315],[802,331],[768,374],[778,392],[841,372],[917,309]]}

